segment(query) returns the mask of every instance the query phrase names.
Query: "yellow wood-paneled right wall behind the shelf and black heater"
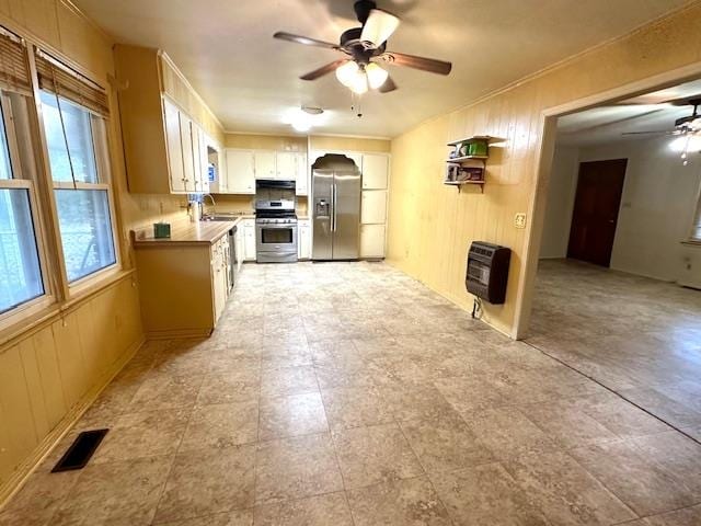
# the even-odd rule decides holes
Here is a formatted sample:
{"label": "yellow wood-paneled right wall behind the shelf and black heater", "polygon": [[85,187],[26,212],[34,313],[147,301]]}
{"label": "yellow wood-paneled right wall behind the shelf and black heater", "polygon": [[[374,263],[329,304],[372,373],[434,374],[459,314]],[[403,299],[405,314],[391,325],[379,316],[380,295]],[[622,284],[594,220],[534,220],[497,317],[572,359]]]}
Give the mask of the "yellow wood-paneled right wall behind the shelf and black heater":
{"label": "yellow wood-paneled right wall behind the shelf and black heater", "polygon": [[[392,140],[388,261],[470,309],[472,296],[464,288],[470,243],[483,240],[512,248],[506,304],[486,306],[485,321],[517,335],[518,306],[521,300],[528,306],[537,262],[532,258],[526,267],[532,255],[528,247],[538,251],[542,226],[538,222],[544,199],[532,210],[530,206],[538,183],[543,112],[699,62],[699,21],[701,5],[696,2]],[[445,186],[446,142],[483,134],[508,139],[505,147],[490,152],[484,194]],[[544,151],[552,155],[549,148]],[[545,190],[547,176],[541,182]],[[515,228],[515,214],[526,211],[536,213],[528,217],[528,228]]]}

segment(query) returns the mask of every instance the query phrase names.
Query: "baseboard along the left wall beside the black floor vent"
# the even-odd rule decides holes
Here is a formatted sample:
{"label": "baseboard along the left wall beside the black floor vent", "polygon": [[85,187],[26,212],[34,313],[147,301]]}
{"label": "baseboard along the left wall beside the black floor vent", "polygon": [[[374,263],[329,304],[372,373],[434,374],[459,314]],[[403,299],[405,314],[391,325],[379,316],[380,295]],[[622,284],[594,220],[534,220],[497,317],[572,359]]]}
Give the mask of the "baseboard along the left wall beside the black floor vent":
{"label": "baseboard along the left wall beside the black floor vent", "polygon": [[51,453],[51,449],[64,438],[64,436],[80,420],[83,413],[93,404],[100,393],[112,382],[124,366],[134,357],[139,348],[143,345],[146,339],[141,336],[135,342],[124,355],[114,363],[110,371],[100,377],[100,381],[95,387],[90,389],[67,413],[61,421],[56,424],[48,435],[38,444],[32,454],[22,462],[10,478],[0,485],[0,510],[12,499],[24,485],[30,476],[38,468],[44,459]]}

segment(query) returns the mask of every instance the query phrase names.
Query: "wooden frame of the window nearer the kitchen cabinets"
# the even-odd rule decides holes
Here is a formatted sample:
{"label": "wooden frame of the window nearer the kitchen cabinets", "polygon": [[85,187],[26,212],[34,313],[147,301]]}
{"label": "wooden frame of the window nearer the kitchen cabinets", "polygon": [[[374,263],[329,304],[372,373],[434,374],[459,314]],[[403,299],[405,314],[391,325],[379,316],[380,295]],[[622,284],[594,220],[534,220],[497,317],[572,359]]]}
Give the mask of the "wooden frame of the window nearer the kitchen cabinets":
{"label": "wooden frame of the window nearer the kitchen cabinets", "polygon": [[[59,104],[62,106],[64,104],[73,105],[81,111],[88,113],[90,117],[90,140],[92,146],[92,153],[94,156],[95,163],[95,172],[97,175],[96,183],[85,183],[80,181],[55,181],[51,174],[51,163],[50,156],[48,149],[48,140],[46,137],[46,127],[44,122],[44,103],[42,102],[42,93],[46,93],[51,98],[59,98]],[[92,288],[94,285],[100,283],[103,279],[107,279],[113,275],[118,274],[122,268],[122,253],[119,245],[119,237],[117,235],[117,217],[116,217],[116,208],[114,201],[114,187],[113,187],[113,178],[112,178],[112,158],[111,158],[111,148],[110,148],[110,134],[107,129],[108,121],[104,116],[97,114],[96,112],[90,110],[89,107],[82,106],[71,100],[62,98],[60,94],[56,94],[48,90],[42,90],[38,87],[35,90],[35,101],[37,107],[39,108],[38,118],[39,118],[39,129],[42,134],[42,145],[45,155],[45,165],[46,165],[46,184],[50,191],[50,201],[53,204],[53,213],[55,219],[55,228],[53,229],[53,235],[56,238],[56,247],[58,250],[58,260],[60,261],[60,268],[58,272],[61,277],[61,285],[65,290],[65,296],[67,299],[72,299],[76,296],[79,296],[81,293]],[[97,133],[95,132],[95,122],[102,126],[103,132],[100,133],[102,137],[97,137]],[[101,144],[102,142],[102,144]],[[68,153],[70,155],[70,152]],[[69,281],[68,278],[68,270],[66,267],[66,258],[64,253],[62,247],[62,237],[59,225],[58,217],[58,206],[56,204],[56,191],[57,190],[87,190],[87,191],[100,191],[106,192],[107,194],[107,208],[110,211],[110,229],[111,229],[111,238],[112,244],[114,248],[114,263],[104,266],[95,272],[87,274],[82,277],[79,277],[74,281]]]}

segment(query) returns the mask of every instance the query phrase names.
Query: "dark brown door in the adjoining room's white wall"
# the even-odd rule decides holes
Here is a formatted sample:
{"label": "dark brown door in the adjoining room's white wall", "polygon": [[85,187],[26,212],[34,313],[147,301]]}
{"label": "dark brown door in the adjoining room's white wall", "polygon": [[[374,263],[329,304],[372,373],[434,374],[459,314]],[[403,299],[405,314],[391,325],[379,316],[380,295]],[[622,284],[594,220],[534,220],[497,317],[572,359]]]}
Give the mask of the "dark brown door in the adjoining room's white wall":
{"label": "dark brown door in the adjoining room's white wall", "polygon": [[582,162],[567,258],[610,266],[628,159]]}

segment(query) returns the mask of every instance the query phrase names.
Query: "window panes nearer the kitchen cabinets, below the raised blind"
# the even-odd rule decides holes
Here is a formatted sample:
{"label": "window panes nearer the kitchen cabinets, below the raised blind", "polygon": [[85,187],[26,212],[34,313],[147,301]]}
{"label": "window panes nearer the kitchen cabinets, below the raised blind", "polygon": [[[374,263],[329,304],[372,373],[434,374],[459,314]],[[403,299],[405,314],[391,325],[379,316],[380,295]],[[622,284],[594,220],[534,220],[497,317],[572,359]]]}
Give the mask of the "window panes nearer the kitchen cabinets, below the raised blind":
{"label": "window panes nearer the kitchen cabinets, below the raised blind", "polygon": [[105,122],[88,108],[41,92],[42,117],[69,283],[114,265]]}

